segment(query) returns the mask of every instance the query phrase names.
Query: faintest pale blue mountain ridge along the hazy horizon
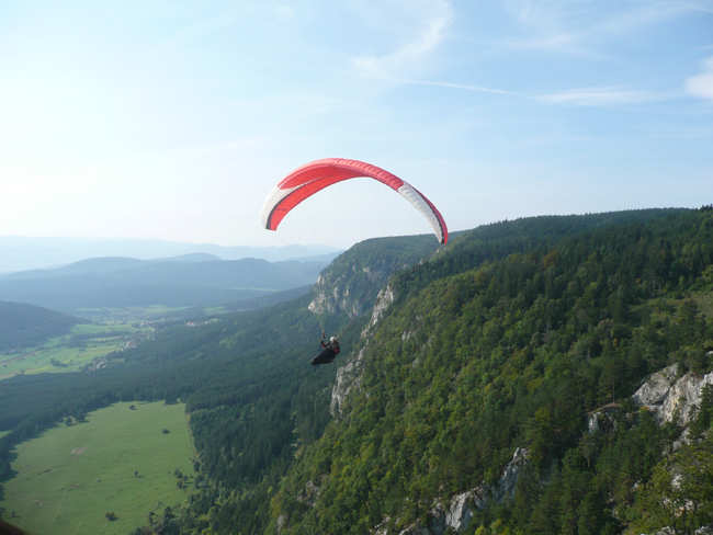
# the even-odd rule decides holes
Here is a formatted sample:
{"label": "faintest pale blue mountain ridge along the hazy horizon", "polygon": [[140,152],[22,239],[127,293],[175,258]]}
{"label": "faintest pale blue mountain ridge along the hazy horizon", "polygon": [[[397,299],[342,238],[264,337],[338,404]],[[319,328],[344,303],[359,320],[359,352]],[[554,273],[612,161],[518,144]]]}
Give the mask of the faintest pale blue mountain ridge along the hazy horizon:
{"label": "faintest pale blue mountain ridge along the hazy horizon", "polygon": [[270,262],[333,259],[340,251],[327,246],[223,247],[214,243],[182,243],[162,240],[30,238],[0,236],[0,273],[56,268],[81,259],[128,257],[161,259],[208,254],[224,260],[257,258]]}

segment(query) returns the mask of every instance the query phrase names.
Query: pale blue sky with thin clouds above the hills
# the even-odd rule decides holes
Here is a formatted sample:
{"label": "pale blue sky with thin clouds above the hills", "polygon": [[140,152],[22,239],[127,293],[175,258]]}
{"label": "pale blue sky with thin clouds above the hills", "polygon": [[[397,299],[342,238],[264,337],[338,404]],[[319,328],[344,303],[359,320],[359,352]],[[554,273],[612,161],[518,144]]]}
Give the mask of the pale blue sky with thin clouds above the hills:
{"label": "pale blue sky with thin clouds above the hills", "polygon": [[223,246],[713,203],[713,0],[0,2],[0,236]]}

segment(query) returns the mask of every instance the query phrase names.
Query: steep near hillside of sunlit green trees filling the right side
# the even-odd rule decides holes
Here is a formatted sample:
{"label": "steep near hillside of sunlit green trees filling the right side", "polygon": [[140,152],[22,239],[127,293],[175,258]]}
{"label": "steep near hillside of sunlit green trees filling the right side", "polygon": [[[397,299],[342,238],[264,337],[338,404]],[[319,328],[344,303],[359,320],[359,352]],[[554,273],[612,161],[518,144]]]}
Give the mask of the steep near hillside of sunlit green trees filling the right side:
{"label": "steep near hillside of sunlit green trees filling the right side", "polygon": [[[541,235],[474,266],[473,237],[488,230],[478,229],[397,275],[400,297],[356,356],[358,388],[291,467],[268,533],[666,525],[634,504],[644,492],[632,486],[648,481],[678,432],[629,400],[671,362],[694,374],[713,365],[713,318],[702,312],[713,298],[713,217],[640,216],[559,240]],[[612,402],[622,407],[613,426],[588,434],[587,416]],[[700,447],[711,453],[710,441]],[[505,485],[508,470],[517,488]],[[701,491],[689,499],[713,496]]]}

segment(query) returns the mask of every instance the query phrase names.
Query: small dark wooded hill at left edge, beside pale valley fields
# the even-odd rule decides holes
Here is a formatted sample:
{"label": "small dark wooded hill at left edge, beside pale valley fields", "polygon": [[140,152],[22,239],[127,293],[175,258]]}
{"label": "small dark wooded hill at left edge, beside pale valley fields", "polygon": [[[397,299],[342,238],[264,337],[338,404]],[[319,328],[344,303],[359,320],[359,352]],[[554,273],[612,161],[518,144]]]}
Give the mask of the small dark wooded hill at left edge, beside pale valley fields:
{"label": "small dark wooded hill at left edge, beside pale valley fields", "polygon": [[79,320],[24,303],[0,301],[0,353],[66,334]]}

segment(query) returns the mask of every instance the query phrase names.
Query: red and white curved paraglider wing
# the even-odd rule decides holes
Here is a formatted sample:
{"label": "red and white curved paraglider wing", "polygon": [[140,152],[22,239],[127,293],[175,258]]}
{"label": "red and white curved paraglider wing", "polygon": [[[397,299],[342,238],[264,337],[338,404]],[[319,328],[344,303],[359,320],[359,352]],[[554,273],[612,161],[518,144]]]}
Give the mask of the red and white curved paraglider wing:
{"label": "red and white curved paraglider wing", "polygon": [[398,192],[428,219],[441,243],[448,242],[448,227],[433,204],[408,182],[388,171],[359,160],[325,158],[307,163],[283,179],[265,200],[262,224],[276,230],[292,208],[320,190],[342,180],[367,177]]}

